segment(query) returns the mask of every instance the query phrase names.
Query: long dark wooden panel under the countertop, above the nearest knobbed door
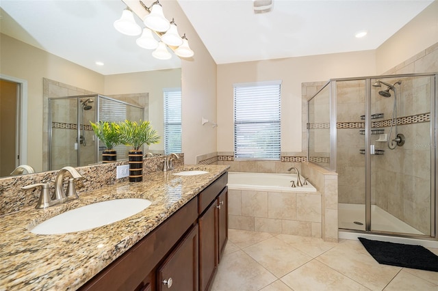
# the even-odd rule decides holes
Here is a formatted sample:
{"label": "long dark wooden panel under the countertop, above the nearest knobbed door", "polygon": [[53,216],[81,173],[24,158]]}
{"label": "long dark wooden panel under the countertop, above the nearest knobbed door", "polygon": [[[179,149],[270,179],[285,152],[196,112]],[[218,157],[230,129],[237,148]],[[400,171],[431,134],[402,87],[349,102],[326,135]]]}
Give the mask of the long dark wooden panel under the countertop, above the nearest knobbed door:
{"label": "long dark wooden panel under the countertop, above the nearest knobbed door", "polygon": [[157,266],[198,219],[194,197],[79,290],[156,290]]}

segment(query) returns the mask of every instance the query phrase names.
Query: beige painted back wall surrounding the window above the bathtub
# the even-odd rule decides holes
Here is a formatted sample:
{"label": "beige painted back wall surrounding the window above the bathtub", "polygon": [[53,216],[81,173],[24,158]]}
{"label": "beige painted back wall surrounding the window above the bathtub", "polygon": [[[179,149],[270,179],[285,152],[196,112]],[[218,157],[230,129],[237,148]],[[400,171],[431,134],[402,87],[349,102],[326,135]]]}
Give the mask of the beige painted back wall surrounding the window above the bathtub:
{"label": "beige painted back wall surrounding the window above the bathtub", "polygon": [[301,83],[372,75],[374,51],[218,65],[218,152],[233,152],[233,83],[281,80],[281,151],[302,150]]}

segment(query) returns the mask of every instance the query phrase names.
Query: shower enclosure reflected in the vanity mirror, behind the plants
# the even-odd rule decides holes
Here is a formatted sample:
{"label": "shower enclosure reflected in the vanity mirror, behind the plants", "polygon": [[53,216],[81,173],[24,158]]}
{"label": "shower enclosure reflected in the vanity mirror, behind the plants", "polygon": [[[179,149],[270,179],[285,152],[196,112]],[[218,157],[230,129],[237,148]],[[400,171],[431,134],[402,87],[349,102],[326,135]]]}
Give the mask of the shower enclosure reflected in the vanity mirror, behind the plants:
{"label": "shower enclosure reflected in the vanity mirror, behind the plants", "polygon": [[[99,94],[49,98],[49,169],[99,163],[105,145],[97,142],[90,121],[127,119],[144,120],[144,109]],[[127,158],[126,146],[116,150],[118,160]]]}

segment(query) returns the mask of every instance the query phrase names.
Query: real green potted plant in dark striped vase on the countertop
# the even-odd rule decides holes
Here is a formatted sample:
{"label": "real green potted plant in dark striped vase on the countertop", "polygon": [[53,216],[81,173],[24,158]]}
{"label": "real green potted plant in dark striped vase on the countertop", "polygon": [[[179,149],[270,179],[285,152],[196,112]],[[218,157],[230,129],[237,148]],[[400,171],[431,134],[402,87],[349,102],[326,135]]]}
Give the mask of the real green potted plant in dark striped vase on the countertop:
{"label": "real green potted plant in dark striped vase on the countertop", "polygon": [[125,122],[120,122],[117,126],[117,133],[121,143],[132,147],[128,154],[129,181],[140,182],[143,180],[142,146],[145,143],[149,146],[151,143],[159,142],[159,136],[147,120],[140,120],[140,122],[125,120]]}

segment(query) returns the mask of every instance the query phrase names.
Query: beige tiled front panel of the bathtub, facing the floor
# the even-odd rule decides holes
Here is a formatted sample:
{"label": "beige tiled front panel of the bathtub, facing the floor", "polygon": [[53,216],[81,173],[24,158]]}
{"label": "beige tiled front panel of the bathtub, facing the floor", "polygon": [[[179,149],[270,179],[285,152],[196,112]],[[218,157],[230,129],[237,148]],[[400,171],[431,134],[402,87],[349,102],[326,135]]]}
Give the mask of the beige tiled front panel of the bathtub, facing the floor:
{"label": "beige tiled front panel of the bathtub, facing the floor", "polygon": [[229,189],[229,228],[321,237],[321,194]]}

